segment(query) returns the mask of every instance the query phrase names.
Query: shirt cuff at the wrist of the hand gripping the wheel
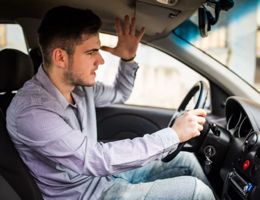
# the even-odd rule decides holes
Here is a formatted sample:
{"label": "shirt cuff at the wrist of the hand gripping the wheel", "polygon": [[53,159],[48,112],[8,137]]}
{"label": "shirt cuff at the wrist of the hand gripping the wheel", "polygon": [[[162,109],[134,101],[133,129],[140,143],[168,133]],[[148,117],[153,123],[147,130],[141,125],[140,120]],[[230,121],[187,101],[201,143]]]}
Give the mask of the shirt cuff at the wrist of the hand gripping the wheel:
{"label": "shirt cuff at the wrist of the hand gripping the wheel", "polygon": [[179,138],[177,133],[171,127],[163,128],[158,132],[159,132],[158,136],[164,147],[163,154],[165,153],[170,154],[174,150],[176,150],[179,144]]}

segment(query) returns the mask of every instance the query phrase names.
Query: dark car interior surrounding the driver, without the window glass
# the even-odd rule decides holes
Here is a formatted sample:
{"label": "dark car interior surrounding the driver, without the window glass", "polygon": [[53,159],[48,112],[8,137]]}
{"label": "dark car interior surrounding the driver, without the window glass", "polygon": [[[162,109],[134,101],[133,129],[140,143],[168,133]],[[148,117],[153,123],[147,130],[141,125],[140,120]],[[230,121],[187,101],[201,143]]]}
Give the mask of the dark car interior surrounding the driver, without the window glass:
{"label": "dark car interior surrounding the driver, without the window glass", "polygon": [[[182,143],[175,154],[163,161],[171,160],[180,150],[194,152],[220,199],[259,199],[260,93],[174,31],[197,13],[198,8],[203,8],[206,3],[216,3],[208,1],[2,0],[0,23],[22,27],[28,54],[11,48],[0,50],[0,199],[43,200],[33,176],[8,136],[5,116],[16,91],[33,77],[42,62],[37,42],[40,20],[48,9],[59,5],[91,9],[102,20],[100,32],[111,35],[116,35],[115,17],[121,21],[126,14],[135,17],[136,30],[139,31],[142,26],[146,29],[142,44],[174,57],[208,80],[208,83],[201,80],[190,88],[177,109],[131,104],[96,108],[99,141],[132,139],[171,125],[198,91],[194,108],[203,108],[206,98],[210,97],[210,111],[204,129],[199,137]],[[237,0],[232,2],[236,6]],[[220,14],[231,13],[232,9]],[[207,34],[205,31],[202,33],[204,36]]]}

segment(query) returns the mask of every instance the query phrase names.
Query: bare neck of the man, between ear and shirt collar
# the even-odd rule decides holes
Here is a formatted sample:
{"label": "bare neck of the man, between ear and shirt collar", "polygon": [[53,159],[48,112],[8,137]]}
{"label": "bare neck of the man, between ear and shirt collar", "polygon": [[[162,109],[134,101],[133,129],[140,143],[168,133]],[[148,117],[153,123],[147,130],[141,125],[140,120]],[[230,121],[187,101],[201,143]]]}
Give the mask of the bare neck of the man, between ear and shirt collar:
{"label": "bare neck of the man, between ear and shirt collar", "polygon": [[51,70],[46,70],[43,68],[46,75],[49,77],[50,81],[52,82],[55,87],[60,91],[60,93],[66,98],[66,100],[74,104],[74,100],[71,96],[71,91],[75,88],[75,86],[67,84],[63,80],[63,71],[60,69],[56,69],[53,66],[51,66]]}

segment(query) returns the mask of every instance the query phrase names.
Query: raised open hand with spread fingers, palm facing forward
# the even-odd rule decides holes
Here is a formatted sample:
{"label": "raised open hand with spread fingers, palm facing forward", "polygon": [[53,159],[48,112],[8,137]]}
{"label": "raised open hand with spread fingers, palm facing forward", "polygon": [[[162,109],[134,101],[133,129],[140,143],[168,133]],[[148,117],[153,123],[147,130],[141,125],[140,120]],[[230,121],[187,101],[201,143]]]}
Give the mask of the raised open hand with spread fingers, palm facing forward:
{"label": "raised open hand with spread fingers, palm facing forward", "polygon": [[141,31],[135,36],[135,18],[131,20],[131,27],[129,24],[129,16],[124,17],[124,32],[122,31],[121,24],[118,18],[115,18],[116,33],[118,36],[117,45],[114,48],[101,46],[101,50],[108,51],[123,59],[130,59],[135,55],[138,44],[144,34],[145,28],[142,27]]}

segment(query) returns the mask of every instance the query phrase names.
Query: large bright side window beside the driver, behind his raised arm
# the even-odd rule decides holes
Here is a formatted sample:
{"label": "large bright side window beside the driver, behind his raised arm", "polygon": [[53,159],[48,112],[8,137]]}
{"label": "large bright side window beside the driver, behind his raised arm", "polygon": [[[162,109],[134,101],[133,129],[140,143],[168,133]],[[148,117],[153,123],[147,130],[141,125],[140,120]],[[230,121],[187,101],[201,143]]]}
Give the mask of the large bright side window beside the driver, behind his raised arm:
{"label": "large bright side window beside the driver, behind his raised arm", "polygon": [[[100,33],[101,45],[114,47],[117,36]],[[99,66],[96,80],[111,84],[117,72],[119,58],[100,50],[105,63]],[[177,59],[145,44],[139,44],[135,61],[134,87],[126,104],[176,109],[189,89],[199,80],[208,80]],[[195,106],[195,94],[186,109]],[[209,95],[205,109],[210,109]]]}

